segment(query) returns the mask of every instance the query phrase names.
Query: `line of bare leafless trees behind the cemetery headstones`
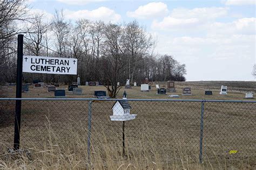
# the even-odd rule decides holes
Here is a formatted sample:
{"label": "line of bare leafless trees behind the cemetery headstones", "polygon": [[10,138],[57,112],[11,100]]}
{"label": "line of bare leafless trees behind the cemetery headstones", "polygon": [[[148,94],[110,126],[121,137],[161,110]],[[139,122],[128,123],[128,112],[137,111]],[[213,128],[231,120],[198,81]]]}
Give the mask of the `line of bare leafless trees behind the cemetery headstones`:
{"label": "line of bare leafless trees behind the cemetery headstones", "polygon": [[[100,81],[108,90],[117,82],[185,81],[185,64],[170,54],[154,53],[157,42],[136,20],[113,24],[103,21],[65,19],[56,10],[48,20],[43,13],[29,15],[23,1],[0,3],[0,82],[15,82],[17,34],[24,34],[24,55],[78,59],[78,75],[86,81]],[[19,23],[19,24],[17,24]],[[17,26],[21,25],[22,28]],[[171,47],[170,47],[171,48]],[[24,73],[24,82],[40,79],[47,83],[71,83],[73,75]]]}

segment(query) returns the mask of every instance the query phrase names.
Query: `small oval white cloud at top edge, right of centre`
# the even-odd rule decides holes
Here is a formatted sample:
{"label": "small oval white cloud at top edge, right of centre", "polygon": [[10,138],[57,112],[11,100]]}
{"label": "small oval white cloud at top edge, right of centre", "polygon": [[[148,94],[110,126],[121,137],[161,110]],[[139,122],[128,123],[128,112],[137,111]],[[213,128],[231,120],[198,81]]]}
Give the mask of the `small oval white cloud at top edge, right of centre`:
{"label": "small oval white cloud at top edge, right of centre", "polygon": [[135,11],[128,11],[126,15],[132,18],[149,19],[163,17],[168,13],[167,5],[163,2],[151,2]]}

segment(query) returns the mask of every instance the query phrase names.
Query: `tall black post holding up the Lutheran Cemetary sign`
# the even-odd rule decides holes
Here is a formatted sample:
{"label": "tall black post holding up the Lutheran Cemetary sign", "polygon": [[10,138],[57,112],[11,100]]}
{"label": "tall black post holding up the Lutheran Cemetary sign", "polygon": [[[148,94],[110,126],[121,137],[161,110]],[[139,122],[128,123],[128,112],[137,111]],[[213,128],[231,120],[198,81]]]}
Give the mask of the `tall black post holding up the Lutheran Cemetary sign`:
{"label": "tall black post holding up the Lutheran Cemetary sign", "polygon": [[[23,34],[18,34],[17,54],[18,55],[17,55],[16,98],[22,98]],[[21,103],[22,103],[21,100],[16,100],[14,150],[19,149],[19,133],[21,130]]]}

